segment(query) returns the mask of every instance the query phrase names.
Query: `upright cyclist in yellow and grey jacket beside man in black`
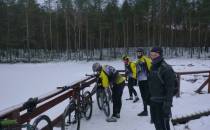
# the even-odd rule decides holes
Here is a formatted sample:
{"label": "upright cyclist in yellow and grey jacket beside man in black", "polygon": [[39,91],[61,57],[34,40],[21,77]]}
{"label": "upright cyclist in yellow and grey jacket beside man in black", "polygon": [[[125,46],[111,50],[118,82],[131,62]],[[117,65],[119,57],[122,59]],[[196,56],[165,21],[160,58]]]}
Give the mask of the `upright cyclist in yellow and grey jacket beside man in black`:
{"label": "upright cyclist in yellow and grey jacket beside man in black", "polygon": [[142,48],[138,48],[136,53],[138,58],[136,61],[137,80],[144,106],[144,110],[138,116],[147,116],[147,105],[149,105],[149,86],[147,79],[152,61],[149,57],[145,56]]}

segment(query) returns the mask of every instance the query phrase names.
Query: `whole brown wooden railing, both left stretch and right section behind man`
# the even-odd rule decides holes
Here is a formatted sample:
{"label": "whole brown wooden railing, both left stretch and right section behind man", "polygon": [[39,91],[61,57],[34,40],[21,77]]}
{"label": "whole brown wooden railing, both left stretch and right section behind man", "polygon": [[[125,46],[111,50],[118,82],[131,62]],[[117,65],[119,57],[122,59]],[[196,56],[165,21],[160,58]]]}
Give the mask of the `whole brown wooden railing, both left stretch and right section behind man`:
{"label": "whole brown wooden railing, both left stretch and right section behind man", "polygon": [[[124,73],[123,70],[119,70],[120,73]],[[208,93],[210,93],[210,70],[209,71],[191,71],[191,72],[177,72],[177,76],[179,79],[179,92],[177,94],[177,96],[180,96],[180,79],[182,75],[188,75],[188,74],[200,74],[200,73],[208,73],[208,79],[196,90],[197,93],[201,92],[201,90],[208,84]],[[89,77],[89,78],[85,78],[83,80],[80,80],[78,82],[75,82],[73,84],[71,84],[69,87],[69,89],[64,90],[64,89],[56,89],[53,92],[51,92],[50,94],[47,94],[45,96],[42,97],[38,97],[38,107],[35,108],[33,110],[32,113],[23,113],[21,114],[23,111],[25,111],[25,109],[23,108],[23,103],[7,108],[5,110],[0,111],[0,119],[5,119],[5,118],[9,118],[9,119],[16,119],[19,123],[25,123],[30,119],[33,119],[34,117],[40,115],[43,112],[48,111],[49,109],[51,109],[52,107],[58,105],[59,103],[63,102],[64,100],[66,100],[67,98],[69,98],[70,96],[72,96],[73,90],[72,88],[75,87],[80,87],[81,83],[85,83],[87,85],[91,85],[96,81],[96,78],[94,77]],[[41,104],[41,105],[39,105]],[[61,115],[58,115],[53,121],[52,124],[53,126],[55,126],[56,124],[58,124],[58,122],[61,119]]]}

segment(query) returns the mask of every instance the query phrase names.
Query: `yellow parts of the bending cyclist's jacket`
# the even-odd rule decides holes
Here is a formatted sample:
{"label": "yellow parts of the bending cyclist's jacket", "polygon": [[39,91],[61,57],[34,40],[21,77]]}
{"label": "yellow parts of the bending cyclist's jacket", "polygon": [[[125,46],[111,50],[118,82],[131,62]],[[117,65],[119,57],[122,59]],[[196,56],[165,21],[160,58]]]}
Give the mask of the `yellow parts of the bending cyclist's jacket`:
{"label": "yellow parts of the bending cyclist's jacket", "polygon": [[111,81],[109,81],[109,75],[106,72],[106,70],[108,69],[107,67],[110,67],[108,65],[103,66],[99,78],[101,79],[102,82],[102,86],[104,88],[108,88],[111,84],[121,84],[125,81],[125,78],[120,75],[119,73],[116,75],[115,80],[113,81],[113,83],[111,83]]}

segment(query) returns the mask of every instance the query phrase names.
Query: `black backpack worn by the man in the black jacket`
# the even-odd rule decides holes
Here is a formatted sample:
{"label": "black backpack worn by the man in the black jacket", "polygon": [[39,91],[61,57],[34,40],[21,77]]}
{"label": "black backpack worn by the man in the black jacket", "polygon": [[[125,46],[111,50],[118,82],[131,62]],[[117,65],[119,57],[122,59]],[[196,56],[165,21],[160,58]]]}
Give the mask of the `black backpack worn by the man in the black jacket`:
{"label": "black backpack worn by the man in the black jacket", "polygon": [[[168,64],[167,63],[163,63],[162,66],[166,67],[166,66],[168,66]],[[158,69],[157,75],[158,75],[158,78],[159,78],[160,82],[164,85],[165,82],[164,82],[164,80],[162,79],[162,77],[160,75],[160,68]],[[173,70],[173,72],[174,72],[174,70]],[[178,92],[179,92],[179,80],[178,80],[178,77],[177,77],[175,72],[174,72],[174,76],[175,76],[175,78],[174,78],[174,84],[175,85],[174,85],[174,90],[173,90],[173,96],[176,96],[178,94]]]}

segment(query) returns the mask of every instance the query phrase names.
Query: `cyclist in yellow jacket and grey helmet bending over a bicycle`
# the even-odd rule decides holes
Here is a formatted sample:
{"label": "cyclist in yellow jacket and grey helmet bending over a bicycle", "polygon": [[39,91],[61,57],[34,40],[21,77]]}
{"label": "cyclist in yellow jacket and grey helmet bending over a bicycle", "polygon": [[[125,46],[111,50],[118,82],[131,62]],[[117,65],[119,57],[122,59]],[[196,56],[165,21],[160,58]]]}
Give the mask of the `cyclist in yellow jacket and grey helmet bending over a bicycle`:
{"label": "cyclist in yellow jacket and grey helmet bending over a bicycle", "polygon": [[119,72],[110,65],[102,66],[99,63],[92,65],[93,72],[99,74],[102,87],[112,89],[112,101],[113,101],[113,114],[108,122],[116,121],[120,118],[120,111],[122,107],[122,94],[125,86],[125,78],[119,74]]}

